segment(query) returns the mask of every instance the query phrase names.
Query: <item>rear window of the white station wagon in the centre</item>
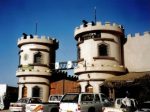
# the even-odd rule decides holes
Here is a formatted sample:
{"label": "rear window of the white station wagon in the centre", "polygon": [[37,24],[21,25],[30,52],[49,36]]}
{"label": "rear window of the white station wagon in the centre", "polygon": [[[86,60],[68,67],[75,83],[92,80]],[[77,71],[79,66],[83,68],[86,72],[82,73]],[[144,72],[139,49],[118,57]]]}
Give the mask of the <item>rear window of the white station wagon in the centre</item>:
{"label": "rear window of the white station wagon in the centre", "polygon": [[77,103],[78,102],[78,94],[66,94],[61,102],[73,102],[73,103]]}

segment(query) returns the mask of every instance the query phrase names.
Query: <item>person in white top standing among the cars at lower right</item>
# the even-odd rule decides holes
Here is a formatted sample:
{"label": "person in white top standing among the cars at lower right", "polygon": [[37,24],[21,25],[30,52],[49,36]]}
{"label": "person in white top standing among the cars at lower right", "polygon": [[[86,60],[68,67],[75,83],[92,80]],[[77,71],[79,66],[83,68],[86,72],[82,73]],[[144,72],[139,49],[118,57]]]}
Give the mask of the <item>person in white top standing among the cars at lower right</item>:
{"label": "person in white top standing among the cars at lower right", "polygon": [[122,99],[122,104],[125,106],[127,109],[127,112],[133,112],[132,111],[132,103],[131,99],[129,98],[129,92],[126,92],[126,97]]}

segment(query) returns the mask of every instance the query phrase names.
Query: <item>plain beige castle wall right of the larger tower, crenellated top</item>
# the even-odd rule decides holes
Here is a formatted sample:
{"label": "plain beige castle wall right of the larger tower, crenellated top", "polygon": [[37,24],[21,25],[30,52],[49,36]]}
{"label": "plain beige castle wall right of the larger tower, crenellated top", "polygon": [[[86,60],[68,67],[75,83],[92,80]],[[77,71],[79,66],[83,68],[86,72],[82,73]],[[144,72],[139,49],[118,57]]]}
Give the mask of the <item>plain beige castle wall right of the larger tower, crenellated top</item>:
{"label": "plain beige castle wall right of the larger tower, crenellated top", "polygon": [[150,32],[127,35],[124,45],[124,62],[129,72],[150,71]]}

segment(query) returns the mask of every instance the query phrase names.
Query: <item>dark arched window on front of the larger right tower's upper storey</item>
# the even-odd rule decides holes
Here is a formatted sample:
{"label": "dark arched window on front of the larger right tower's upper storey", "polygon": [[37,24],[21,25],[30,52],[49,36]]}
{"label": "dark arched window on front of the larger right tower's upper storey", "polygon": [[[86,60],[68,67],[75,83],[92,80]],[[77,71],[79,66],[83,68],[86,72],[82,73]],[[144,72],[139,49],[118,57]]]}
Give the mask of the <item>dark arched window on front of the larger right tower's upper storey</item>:
{"label": "dark arched window on front of the larger right tower's upper storey", "polygon": [[98,46],[98,53],[99,56],[108,56],[108,45],[105,43],[102,43]]}

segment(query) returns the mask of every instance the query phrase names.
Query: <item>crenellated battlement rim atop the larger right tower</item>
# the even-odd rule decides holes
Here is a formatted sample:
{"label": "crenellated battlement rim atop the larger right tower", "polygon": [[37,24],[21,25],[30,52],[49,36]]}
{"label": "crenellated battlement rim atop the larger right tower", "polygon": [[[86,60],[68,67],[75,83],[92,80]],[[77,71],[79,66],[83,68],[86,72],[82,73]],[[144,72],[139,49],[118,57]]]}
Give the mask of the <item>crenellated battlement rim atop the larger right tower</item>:
{"label": "crenellated battlement rim atop the larger right tower", "polygon": [[96,30],[100,30],[100,31],[107,30],[107,31],[123,33],[124,28],[122,25],[118,25],[116,23],[105,22],[105,24],[102,24],[101,22],[96,22],[96,23],[91,22],[76,27],[74,36],[76,37],[80,33],[88,32],[88,31],[96,31]]}

